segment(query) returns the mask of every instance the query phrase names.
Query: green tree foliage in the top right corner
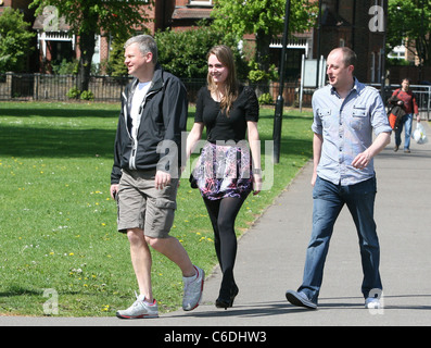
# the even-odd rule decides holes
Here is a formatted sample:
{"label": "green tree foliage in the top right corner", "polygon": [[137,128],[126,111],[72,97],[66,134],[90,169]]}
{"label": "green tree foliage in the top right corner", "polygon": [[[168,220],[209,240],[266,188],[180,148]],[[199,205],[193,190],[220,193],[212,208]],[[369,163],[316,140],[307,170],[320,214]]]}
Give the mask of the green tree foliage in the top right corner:
{"label": "green tree foliage in the top right corner", "polygon": [[390,0],[386,44],[393,49],[404,45],[426,66],[431,65],[431,2]]}

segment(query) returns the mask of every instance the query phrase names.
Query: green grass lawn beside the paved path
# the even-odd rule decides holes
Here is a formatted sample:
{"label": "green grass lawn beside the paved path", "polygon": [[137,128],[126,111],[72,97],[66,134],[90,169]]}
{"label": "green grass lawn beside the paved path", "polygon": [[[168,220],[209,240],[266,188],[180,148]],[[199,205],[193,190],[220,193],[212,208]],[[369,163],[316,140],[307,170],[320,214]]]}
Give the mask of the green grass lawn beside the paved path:
{"label": "green grass lawn beside the paved path", "polygon": [[[116,232],[116,207],[109,192],[118,110],[119,104],[0,103],[0,315],[47,314],[52,294],[63,316],[115,315],[132,302],[137,284],[129,245]],[[189,128],[193,112],[190,108]],[[272,117],[274,109],[262,109],[262,140],[272,137]],[[284,111],[274,185],[248,198],[238,235],[309,160],[310,124],[309,112]],[[270,161],[262,162],[269,173]],[[210,220],[187,178],[179,187],[172,235],[193,263],[207,274],[213,270]],[[180,271],[156,252],[153,259],[160,309],[175,310],[182,297]]]}

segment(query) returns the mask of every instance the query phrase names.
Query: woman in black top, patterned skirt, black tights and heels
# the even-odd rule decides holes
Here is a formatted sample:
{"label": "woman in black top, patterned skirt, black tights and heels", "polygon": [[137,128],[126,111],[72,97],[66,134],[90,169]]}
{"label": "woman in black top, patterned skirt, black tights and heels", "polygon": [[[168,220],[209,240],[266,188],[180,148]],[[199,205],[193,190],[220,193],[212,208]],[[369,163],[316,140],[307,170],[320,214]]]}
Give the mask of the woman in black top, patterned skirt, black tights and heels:
{"label": "woman in black top, patterned skirt, black tights and heels", "polygon": [[233,54],[228,47],[214,47],[207,63],[207,86],[199,91],[194,125],[187,138],[187,156],[206,127],[207,142],[193,175],[213,225],[223,272],[216,307],[227,309],[232,307],[239,291],[233,276],[234,221],[249,194],[253,189],[257,194],[262,186],[259,107],[254,90],[239,85]]}

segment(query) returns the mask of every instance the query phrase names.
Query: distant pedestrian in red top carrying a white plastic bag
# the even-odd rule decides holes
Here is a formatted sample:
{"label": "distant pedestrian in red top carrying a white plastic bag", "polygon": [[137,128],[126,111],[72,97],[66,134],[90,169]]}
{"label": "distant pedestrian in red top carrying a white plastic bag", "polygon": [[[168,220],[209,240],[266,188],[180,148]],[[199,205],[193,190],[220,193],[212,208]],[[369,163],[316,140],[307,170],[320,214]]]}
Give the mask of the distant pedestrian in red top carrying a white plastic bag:
{"label": "distant pedestrian in red top carrying a white plastic bag", "polygon": [[405,115],[401,119],[397,128],[395,129],[395,147],[394,151],[398,151],[401,145],[401,134],[404,133],[404,152],[410,153],[410,137],[411,137],[411,125],[413,116],[416,115],[417,122],[420,122],[419,108],[416,101],[416,97],[410,90],[410,79],[403,78],[401,88],[397,88],[392,94],[391,98],[388,100],[390,104],[400,105]]}

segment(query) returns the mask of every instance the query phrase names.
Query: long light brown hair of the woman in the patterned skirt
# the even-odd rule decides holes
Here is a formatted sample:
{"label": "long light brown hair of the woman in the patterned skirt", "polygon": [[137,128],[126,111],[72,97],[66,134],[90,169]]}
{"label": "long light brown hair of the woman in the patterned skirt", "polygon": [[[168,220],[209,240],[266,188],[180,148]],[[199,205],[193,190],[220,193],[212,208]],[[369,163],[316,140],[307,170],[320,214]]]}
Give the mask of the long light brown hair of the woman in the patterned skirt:
{"label": "long light brown hair of the woman in the patterned skirt", "polygon": [[[233,53],[229,47],[227,47],[225,45],[219,45],[219,46],[213,47],[210,50],[210,52],[206,57],[206,60],[208,60],[211,54],[214,54],[215,57],[217,57],[218,61],[228,69],[228,76],[227,76],[226,83],[225,83],[225,90],[223,91],[224,97],[220,100],[220,108],[223,111],[226,111],[226,115],[229,115],[232,103],[238,98],[238,89],[239,89]],[[218,87],[214,83],[213,77],[210,74],[210,71],[208,71],[206,80],[208,84],[210,91],[212,91],[213,94],[216,94]]]}

